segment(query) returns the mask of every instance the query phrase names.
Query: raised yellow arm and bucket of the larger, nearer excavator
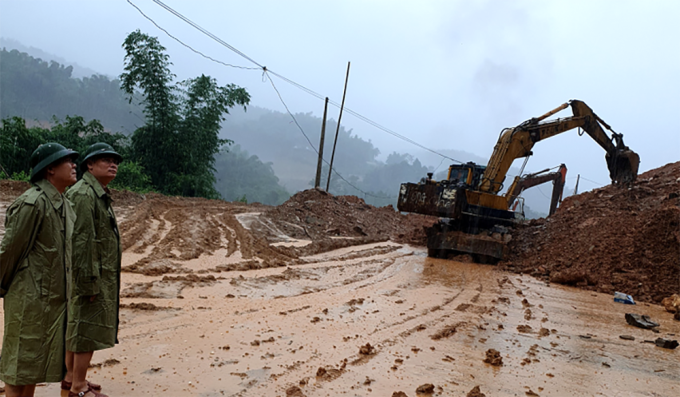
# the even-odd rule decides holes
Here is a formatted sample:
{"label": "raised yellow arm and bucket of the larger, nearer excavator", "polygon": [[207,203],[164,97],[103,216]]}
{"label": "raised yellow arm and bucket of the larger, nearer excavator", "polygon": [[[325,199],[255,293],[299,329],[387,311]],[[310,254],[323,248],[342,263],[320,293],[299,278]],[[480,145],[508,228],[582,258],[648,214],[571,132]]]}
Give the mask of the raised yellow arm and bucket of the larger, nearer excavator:
{"label": "raised yellow arm and bucket of the larger, nearer excavator", "polygon": [[[569,106],[573,117],[542,122]],[[612,132],[611,138],[602,126]],[[605,150],[609,176],[613,183],[629,183],[635,180],[640,157],[623,144],[623,135],[614,132],[584,102],[571,100],[540,117],[503,130],[482,177],[480,190],[497,194],[502,189],[506,173],[515,159],[530,156],[536,142],[574,128],[582,128]]]}

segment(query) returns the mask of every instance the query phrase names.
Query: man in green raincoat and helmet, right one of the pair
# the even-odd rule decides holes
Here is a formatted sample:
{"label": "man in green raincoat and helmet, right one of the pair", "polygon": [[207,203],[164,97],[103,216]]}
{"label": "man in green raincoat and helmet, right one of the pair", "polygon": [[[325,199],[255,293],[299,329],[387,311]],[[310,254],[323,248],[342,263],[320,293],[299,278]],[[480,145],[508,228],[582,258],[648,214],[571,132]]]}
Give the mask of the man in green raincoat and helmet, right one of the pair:
{"label": "man in green raincoat and helmet, right one of the pair", "polygon": [[73,232],[73,291],[68,308],[66,367],[62,389],[69,396],[104,396],[87,381],[95,350],[113,347],[118,336],[121,249],[107,185],[116,177],[121,156],[95,143],[80,164],[83,178],[66,196],[77,220]]}

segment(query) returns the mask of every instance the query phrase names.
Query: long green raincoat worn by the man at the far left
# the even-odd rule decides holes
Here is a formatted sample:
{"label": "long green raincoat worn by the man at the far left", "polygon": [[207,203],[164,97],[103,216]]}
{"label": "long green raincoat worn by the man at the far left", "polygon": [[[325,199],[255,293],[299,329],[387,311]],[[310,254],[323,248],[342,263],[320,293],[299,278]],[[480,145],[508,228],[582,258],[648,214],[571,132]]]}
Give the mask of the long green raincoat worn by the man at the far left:
{"label": "long green raincoat worn by the man at the far left", "polygon": [[7,209],[0,246],[5,335],[0,379],[11,385],[59,382],[66,374],[64,335],[75,214],[40,180]]}

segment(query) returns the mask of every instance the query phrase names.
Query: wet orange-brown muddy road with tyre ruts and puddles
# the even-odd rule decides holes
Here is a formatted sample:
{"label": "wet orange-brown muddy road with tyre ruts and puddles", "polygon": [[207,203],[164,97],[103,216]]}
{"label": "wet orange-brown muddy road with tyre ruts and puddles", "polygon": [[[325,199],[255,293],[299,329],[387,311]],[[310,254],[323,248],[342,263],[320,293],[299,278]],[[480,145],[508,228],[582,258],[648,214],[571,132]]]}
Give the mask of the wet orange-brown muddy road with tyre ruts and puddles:
{"label": "wet orange-brown muddy road with tyre ruts and puddles", "polygon": [[291,233],[261,206],[154,198],[116,210],[120,344],[90,370],[110,396],[416,396],[424,384],[442,396],[680,395],[680,353],[645,343],[680,336],[660,306],[370,233]]}

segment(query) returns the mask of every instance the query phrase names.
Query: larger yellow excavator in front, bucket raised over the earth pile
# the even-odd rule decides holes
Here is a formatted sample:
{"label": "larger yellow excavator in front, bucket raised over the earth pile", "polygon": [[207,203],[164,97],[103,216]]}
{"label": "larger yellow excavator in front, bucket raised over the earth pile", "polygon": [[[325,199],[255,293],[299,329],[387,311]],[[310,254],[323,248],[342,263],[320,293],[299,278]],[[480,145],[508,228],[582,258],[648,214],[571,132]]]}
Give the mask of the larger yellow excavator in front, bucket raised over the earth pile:
{"label": "larger yellow excavator in front, bucket raised over the earth pile", "polygon": [[[573,116],[546,120],[568,107]],[[521,211],[511,210],[521,177],[515,177],[504,195],[499,194],[508,169],[519,158],[525,159],[524,169],[537,142],[575,128],[585,131],[605,150],[613,184],[629,185],[635,181],[640,156],[623,143],[623,134],[615,132],[584,102],[571,100],[540,117],[503,129],[485,166],[472,162],[454,164],[444,180],[435,181],[428,174],[420,183],[403,183],[397,208],[401,212],[440,218],[426,230],[429,256],[465,253],[478,262],[496,262],[507,250],[509,228],[524,218]],[[611,137],[603,128],[611,132]]]}

